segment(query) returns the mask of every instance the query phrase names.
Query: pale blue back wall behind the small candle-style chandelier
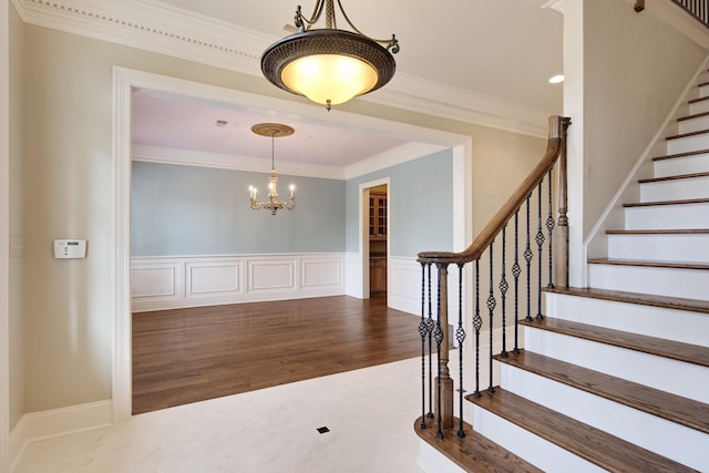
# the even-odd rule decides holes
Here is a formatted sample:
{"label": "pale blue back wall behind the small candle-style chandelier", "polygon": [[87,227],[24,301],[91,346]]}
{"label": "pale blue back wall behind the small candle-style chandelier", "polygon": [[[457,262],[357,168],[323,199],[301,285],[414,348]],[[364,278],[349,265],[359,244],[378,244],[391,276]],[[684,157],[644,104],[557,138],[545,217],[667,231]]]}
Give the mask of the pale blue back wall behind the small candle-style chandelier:
{"label": "pale blue back wall behind the small candle-style chandelier", "polygon": [[249,184],[265,197],[267,173],[133,162],[131,255],[329,253],[345,249],[345,182],[279,175],[296,209],[251,210]]}

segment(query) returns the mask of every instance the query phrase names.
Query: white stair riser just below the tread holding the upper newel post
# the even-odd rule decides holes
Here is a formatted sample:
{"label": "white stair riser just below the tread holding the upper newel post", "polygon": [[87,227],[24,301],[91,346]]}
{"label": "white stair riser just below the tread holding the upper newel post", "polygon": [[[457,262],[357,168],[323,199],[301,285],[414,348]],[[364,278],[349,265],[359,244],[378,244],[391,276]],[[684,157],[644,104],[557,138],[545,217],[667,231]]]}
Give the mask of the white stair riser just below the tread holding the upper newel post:
{"label": "white stair riser just below the tread holding the upper newel post", "polygon": [[546,292],[547,317],[709,347],[709,313]]}

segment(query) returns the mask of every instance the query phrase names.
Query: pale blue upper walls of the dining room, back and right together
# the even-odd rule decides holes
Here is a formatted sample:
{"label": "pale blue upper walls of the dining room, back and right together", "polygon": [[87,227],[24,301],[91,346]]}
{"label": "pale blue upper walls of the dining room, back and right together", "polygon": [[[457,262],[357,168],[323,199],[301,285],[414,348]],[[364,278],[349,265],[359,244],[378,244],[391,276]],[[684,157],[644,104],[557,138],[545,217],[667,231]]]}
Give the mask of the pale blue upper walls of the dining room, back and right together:
{"label": "pale blue upper walls of the dining room, back and right together", "polygon": [[390,178],[392,256],[453,248],[453,156],[446,150],[347,182],[279,175],[296,209],[248,206],[267,173],[133,162],[131,256],[359,251],[359,185]]}

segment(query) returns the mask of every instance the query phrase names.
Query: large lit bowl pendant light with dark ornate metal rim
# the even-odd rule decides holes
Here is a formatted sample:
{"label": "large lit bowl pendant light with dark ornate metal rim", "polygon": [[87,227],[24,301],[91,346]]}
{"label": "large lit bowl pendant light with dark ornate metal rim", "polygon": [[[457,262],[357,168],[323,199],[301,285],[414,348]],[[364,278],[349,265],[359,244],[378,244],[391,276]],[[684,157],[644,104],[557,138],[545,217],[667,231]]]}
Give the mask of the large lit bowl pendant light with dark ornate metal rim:
{"label": "large lit bowl pendant light with dark ornate metal rim", "polygon": [[[391,40],[366,37],[340,0],[337,4],[353,31],[337,28],[333,0],[317,0],[310,19],[298,6],[294,20],[300,31],[275,42],[261,55],[261,72],[273,84],[327,110],[386,85],[397,69],[392,53],[399,52],[394,34]],[[326,28],[311,29],[323,7]]]}

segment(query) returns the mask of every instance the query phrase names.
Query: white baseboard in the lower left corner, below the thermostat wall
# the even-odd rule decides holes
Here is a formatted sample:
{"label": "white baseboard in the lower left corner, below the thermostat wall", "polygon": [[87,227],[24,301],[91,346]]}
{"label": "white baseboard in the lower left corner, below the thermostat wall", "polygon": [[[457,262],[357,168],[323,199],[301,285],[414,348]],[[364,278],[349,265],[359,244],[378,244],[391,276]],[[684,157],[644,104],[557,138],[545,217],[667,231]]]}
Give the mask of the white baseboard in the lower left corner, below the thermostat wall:
{"label": "white baseboard in the lower left corner, below the thermostat wall", "polygon": [[32,412],[22,415],[10,432],[9,459],[12,471],[31,442],[105,428],[112,424],[110,400]]}

